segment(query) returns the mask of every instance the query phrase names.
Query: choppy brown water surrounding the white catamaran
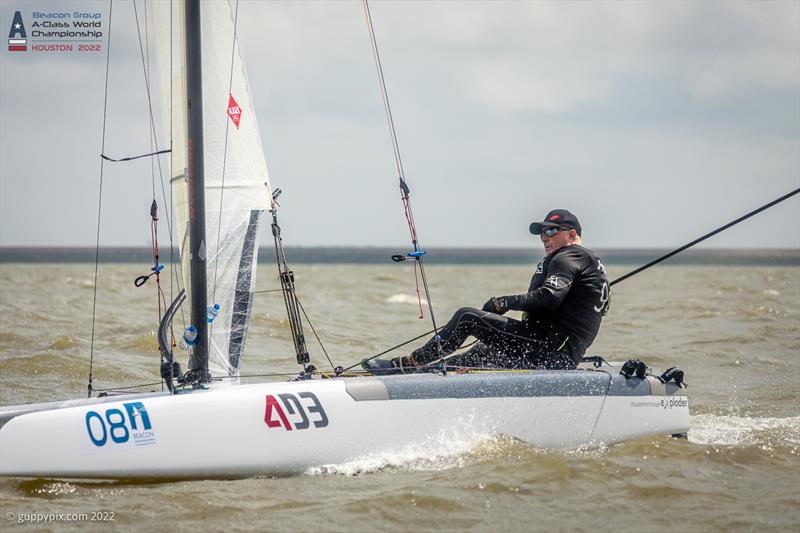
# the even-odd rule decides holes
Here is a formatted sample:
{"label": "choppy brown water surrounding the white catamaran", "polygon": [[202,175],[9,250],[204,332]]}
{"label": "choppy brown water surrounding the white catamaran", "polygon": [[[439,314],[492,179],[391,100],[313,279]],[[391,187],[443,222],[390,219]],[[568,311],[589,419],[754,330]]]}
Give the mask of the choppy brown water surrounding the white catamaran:
{"label": "choppy brown water surrounding the white catamaran", "polygon": [[[610,269],[613,278],[630,266]],[[97,387],[158,380],[145,265],[101,264]],[[527,286],[525,266],[427,269],[439,322]],[[85,395],[94,266],[0,264],[0,403]],[[272,265],[258,285],[274,289]],[[409,265],[298,265],[303,305],[335,364],[430,329]],[[165,291],[169,296],[169,283]],[[426,310],[427,314],[427,310]],[[279,293],[256,297],[245,374],[295,372]],[[307,331],[313,362],[329,366]],[[417,346],[412,344],[409,348]],[[686,371],[688,440],[544,451],[502,436],[424,446],[302,476],[180,483],[0,479],[7,513],[113,512],[50,528],[269,531],[796,531],[800,526],[800,268],[658,267],[612,292],[590,352]],[[253,378],[255,379],[255,378]],[[153,387],[150,387],[153,388]],[[149,389],[148,389],[149,390]],[[208,428],[213,431],[213,428]],[[66,516],[66,515],[65,515]],[[108,517],[108,515],[106,515]]]}

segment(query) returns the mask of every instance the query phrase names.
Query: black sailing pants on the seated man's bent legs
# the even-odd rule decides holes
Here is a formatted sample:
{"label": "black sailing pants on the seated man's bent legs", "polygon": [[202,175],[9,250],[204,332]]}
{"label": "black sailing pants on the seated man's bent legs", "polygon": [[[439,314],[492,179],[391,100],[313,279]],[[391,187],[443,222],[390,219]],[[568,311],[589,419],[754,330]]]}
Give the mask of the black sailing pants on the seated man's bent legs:
{"label": "black sailing pants on the seated man's bent legs", "polygon": [[[576,366],[566,342],[545,326],[473,307],[456,311],[439,330],[442,355],[456,351],[469,336],[480,342],[466,353],[448,359],[447,365],[546,369],[572,369]],[[561,345],[555,346],[556,342]],[[439,357],[436,339],[429,340],[412,355],[419,364],[435,361]]]}

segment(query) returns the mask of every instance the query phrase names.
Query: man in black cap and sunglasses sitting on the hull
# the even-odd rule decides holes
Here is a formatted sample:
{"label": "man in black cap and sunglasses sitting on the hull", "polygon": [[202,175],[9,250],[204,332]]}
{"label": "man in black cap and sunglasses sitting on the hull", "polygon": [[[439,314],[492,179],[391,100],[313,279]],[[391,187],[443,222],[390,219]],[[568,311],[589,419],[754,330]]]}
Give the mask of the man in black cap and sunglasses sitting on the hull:
{"label": "man in black cap and sunglasses sitting on the hull", "polygon": [[[448,366],[574,369],[608,312],[610,291],[605,267],[581,246],[581,225],[566,209],[554,209],[530,225],[545,258],[536,267],[528,292],[493,296],[483,308],[462,307],[436,337],[411,355],[365,360],[377,372],[398,372],[438,362],[469,336],[478,342],[446,359]],[[522,311],[522,320],[504,316]]]}

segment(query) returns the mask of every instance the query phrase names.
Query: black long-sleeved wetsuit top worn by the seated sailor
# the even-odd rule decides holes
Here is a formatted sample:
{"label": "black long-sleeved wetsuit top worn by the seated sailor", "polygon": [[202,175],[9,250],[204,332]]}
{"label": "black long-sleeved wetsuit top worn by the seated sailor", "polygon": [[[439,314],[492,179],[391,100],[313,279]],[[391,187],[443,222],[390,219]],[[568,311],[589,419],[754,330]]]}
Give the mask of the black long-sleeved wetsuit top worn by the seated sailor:
{"label": "black long-sleeved wetsuit top worn by the seated sailor", "polygon": [[525,312],[523,320],[568,336],[570,351],[580,356],[597,336],[611,297],[603,263],[593,251],[572,244],[539,263],[527,293],[505,300],[509,309]]}

